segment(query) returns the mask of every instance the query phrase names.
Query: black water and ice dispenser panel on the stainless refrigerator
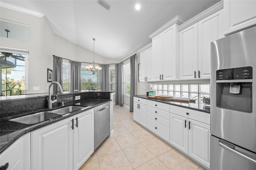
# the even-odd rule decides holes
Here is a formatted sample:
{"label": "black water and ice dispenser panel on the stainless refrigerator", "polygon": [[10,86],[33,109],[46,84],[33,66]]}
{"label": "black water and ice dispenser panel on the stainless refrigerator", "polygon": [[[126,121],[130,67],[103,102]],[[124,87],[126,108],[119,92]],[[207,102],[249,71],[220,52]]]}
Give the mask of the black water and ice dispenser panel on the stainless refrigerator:
{"label": "black water and ice dispenser panel on the stainless refrigerator", "polygon": [[216,71],[216,107],[252,113],[252,67]]}

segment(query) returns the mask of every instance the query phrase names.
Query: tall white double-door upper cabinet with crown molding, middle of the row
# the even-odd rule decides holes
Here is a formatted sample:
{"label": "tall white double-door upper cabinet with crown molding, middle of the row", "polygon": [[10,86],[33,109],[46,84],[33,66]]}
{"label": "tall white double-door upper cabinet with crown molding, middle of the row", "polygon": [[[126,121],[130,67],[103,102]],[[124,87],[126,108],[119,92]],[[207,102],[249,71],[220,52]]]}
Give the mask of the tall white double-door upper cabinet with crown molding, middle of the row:
{"label": "tall white double-door upper cabinet with crown molding, middle of the row", "polygon": [[178,30],[185,20],[176,16],[149,37],[152,38],[152,81],[176,80],[178,75]]}

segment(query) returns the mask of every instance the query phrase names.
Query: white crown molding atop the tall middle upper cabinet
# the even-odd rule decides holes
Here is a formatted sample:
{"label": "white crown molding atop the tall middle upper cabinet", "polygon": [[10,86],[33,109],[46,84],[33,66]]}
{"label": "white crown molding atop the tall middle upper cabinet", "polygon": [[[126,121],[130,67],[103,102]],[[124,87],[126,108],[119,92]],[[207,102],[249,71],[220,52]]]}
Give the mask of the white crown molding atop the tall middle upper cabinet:
{"label": "white crown molding atop the tall middle upper cabinet", "polygon": [[149,38],[154,38],[155,36],[157,36],[158,34],[160,34],[161,32],[163,32],[164,30],[166,30],[167,28],[170,28],[171,26],[173,26],[174,24],[182,24],[186,22],[186,20],[180,16],[176,16],[174,17],[172,20],[170,20],[169,22],[167,22],[166,24],[164,24],[162,27],[160,27],[158,30],[156,30],[155,32],[153,32],[152,34],[150,34],[148,37]]}

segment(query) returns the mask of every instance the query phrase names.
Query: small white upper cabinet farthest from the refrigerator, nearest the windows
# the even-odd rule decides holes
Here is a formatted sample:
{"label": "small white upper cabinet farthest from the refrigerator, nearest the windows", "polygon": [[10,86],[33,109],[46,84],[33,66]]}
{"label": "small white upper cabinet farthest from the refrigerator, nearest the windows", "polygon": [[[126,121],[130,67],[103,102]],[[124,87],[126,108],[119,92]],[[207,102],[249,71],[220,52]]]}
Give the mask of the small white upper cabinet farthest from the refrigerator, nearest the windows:
{"label": "small white upper cabinet farthest from the refrigerator, nearest the windows", "polygon": [[152,81],[152,43],[146,45],[140,52],[140,81]]}

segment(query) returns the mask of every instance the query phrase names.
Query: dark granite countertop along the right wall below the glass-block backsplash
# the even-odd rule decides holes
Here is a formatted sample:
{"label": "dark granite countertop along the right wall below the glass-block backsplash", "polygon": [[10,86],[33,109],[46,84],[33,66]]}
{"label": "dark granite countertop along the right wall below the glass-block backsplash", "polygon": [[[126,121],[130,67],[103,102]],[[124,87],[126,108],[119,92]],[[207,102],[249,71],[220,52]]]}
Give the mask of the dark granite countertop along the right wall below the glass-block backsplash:
{"label": "dark granite countertop along the right wall below the glass-block backsplash", "polygon": [[184,107],[184,108],[188,108],[188,109],[192,109],[192,110],[196,110],[196,111],[201,111],[201,112],[205,112],[205,113],[210,113],[210,108],[204,108],[204,109],[200,109],[198,108],[197,105],[195,105],[194,102],[180,102],[180,101],[171,101],[171,100],[162,100],[162,99],[152,99],[152,98],[148,98],[147,95],[134,95],[134,97],[139,97],[142,99],[148,99],[148,100],[152,100],[152,101],[158,101],[161,103],[166,103],[166,104],[170,104],[170,105],[175,105],[175,106],[179,106],[179,107]]}

